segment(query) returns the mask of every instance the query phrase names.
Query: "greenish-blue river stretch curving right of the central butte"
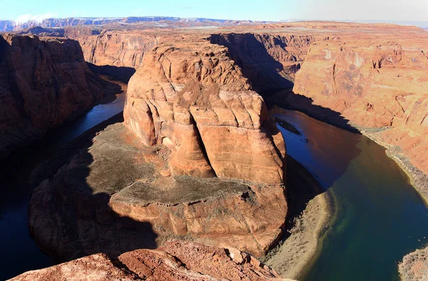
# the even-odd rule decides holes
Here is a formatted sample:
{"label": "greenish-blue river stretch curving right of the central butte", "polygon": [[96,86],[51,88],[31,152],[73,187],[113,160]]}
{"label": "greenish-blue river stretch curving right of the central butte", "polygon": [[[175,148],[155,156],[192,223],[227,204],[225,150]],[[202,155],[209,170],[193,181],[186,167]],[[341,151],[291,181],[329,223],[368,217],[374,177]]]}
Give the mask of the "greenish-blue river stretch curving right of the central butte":
{"label": "greenish-blue river stretch curving right of the central butte", "polygon": [[335,219],[302,281],[399,280],[397,264],[427,245],[428,209],[407,175],[369,138],[298,111],[274,115],[287,153],[335,200]]}

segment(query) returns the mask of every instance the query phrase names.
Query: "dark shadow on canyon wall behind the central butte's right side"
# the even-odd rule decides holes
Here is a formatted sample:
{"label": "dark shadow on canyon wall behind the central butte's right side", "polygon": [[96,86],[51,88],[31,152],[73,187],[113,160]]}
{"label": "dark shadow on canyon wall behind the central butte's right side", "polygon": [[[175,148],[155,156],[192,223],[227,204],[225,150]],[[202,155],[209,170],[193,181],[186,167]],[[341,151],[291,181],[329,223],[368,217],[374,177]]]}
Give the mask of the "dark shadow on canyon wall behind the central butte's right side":
{"label": "dark shadow on canyon wall behind the central butte's right side", "polygon": [[[212,34],[210,43],[228,48],[230,57],[242,69],[243,76],[248,78],[254,91],[265,99],[267,107],[280,106],[282,108],[302,111],[308,116],[333,126],[343,128],[354,133],[359,131],[352,127],[347,119],[337,111],[313,104],[311,98],[292,92],[294,73],[300,69],[300,63],[294,63],[285,68],[280,61],[275,60],[267,47],[261,41],[263,35],[256,34]],[[287,44],[280,40],[273,41],[277,48],[286,48]]]}

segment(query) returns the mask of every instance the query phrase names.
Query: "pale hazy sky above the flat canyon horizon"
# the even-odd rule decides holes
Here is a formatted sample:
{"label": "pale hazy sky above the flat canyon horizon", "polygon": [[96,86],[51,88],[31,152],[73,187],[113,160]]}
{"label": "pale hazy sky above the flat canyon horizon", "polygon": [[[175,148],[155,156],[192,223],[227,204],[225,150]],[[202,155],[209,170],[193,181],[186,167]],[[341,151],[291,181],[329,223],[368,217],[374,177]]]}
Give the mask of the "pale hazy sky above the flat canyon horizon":
{"label": "pale hazy sky above the flat canyon horizon", "polygon": [[0,0],[0,19],[69,16],[426,21],[428,0]]}

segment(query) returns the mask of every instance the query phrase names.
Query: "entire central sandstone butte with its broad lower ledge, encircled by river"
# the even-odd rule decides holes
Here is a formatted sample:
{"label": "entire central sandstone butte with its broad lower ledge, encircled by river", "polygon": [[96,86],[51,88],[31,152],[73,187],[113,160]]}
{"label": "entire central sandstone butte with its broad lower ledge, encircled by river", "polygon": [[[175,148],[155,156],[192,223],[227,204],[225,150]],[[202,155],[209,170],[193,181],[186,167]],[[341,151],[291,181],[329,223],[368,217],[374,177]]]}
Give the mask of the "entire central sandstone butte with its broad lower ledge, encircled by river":
{"label": "entire central sandstone butte with its broad lower ledge, encircled by river", "polygon": [[227,48],[180,38],[144,52],[126,126],[106,128],[34,190],[30,230],[56,259],[118,256],[168,237],[261,256],[280,237],[280,131]]}

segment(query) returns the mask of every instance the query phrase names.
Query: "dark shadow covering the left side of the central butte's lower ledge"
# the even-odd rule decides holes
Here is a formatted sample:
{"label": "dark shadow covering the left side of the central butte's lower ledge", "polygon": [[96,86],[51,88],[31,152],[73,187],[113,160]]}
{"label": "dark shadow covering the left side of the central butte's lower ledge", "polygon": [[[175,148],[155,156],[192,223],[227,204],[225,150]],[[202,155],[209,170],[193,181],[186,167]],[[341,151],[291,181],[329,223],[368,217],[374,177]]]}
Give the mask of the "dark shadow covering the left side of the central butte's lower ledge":
{"label": "dark shadow covering the left side of the central butte's lower ledge", "polygon": [[92,128],[34,173],[32,185],[40,185],[29,205],[30,232],[57,262],[97,252],[116,258],[123,252],[156,247],[157,235],[150,223],[118,216],[109,206],[112,194],[97,192],[87,183],[93,163],[88,151],[92,138],[121,121],[120,114]]}

